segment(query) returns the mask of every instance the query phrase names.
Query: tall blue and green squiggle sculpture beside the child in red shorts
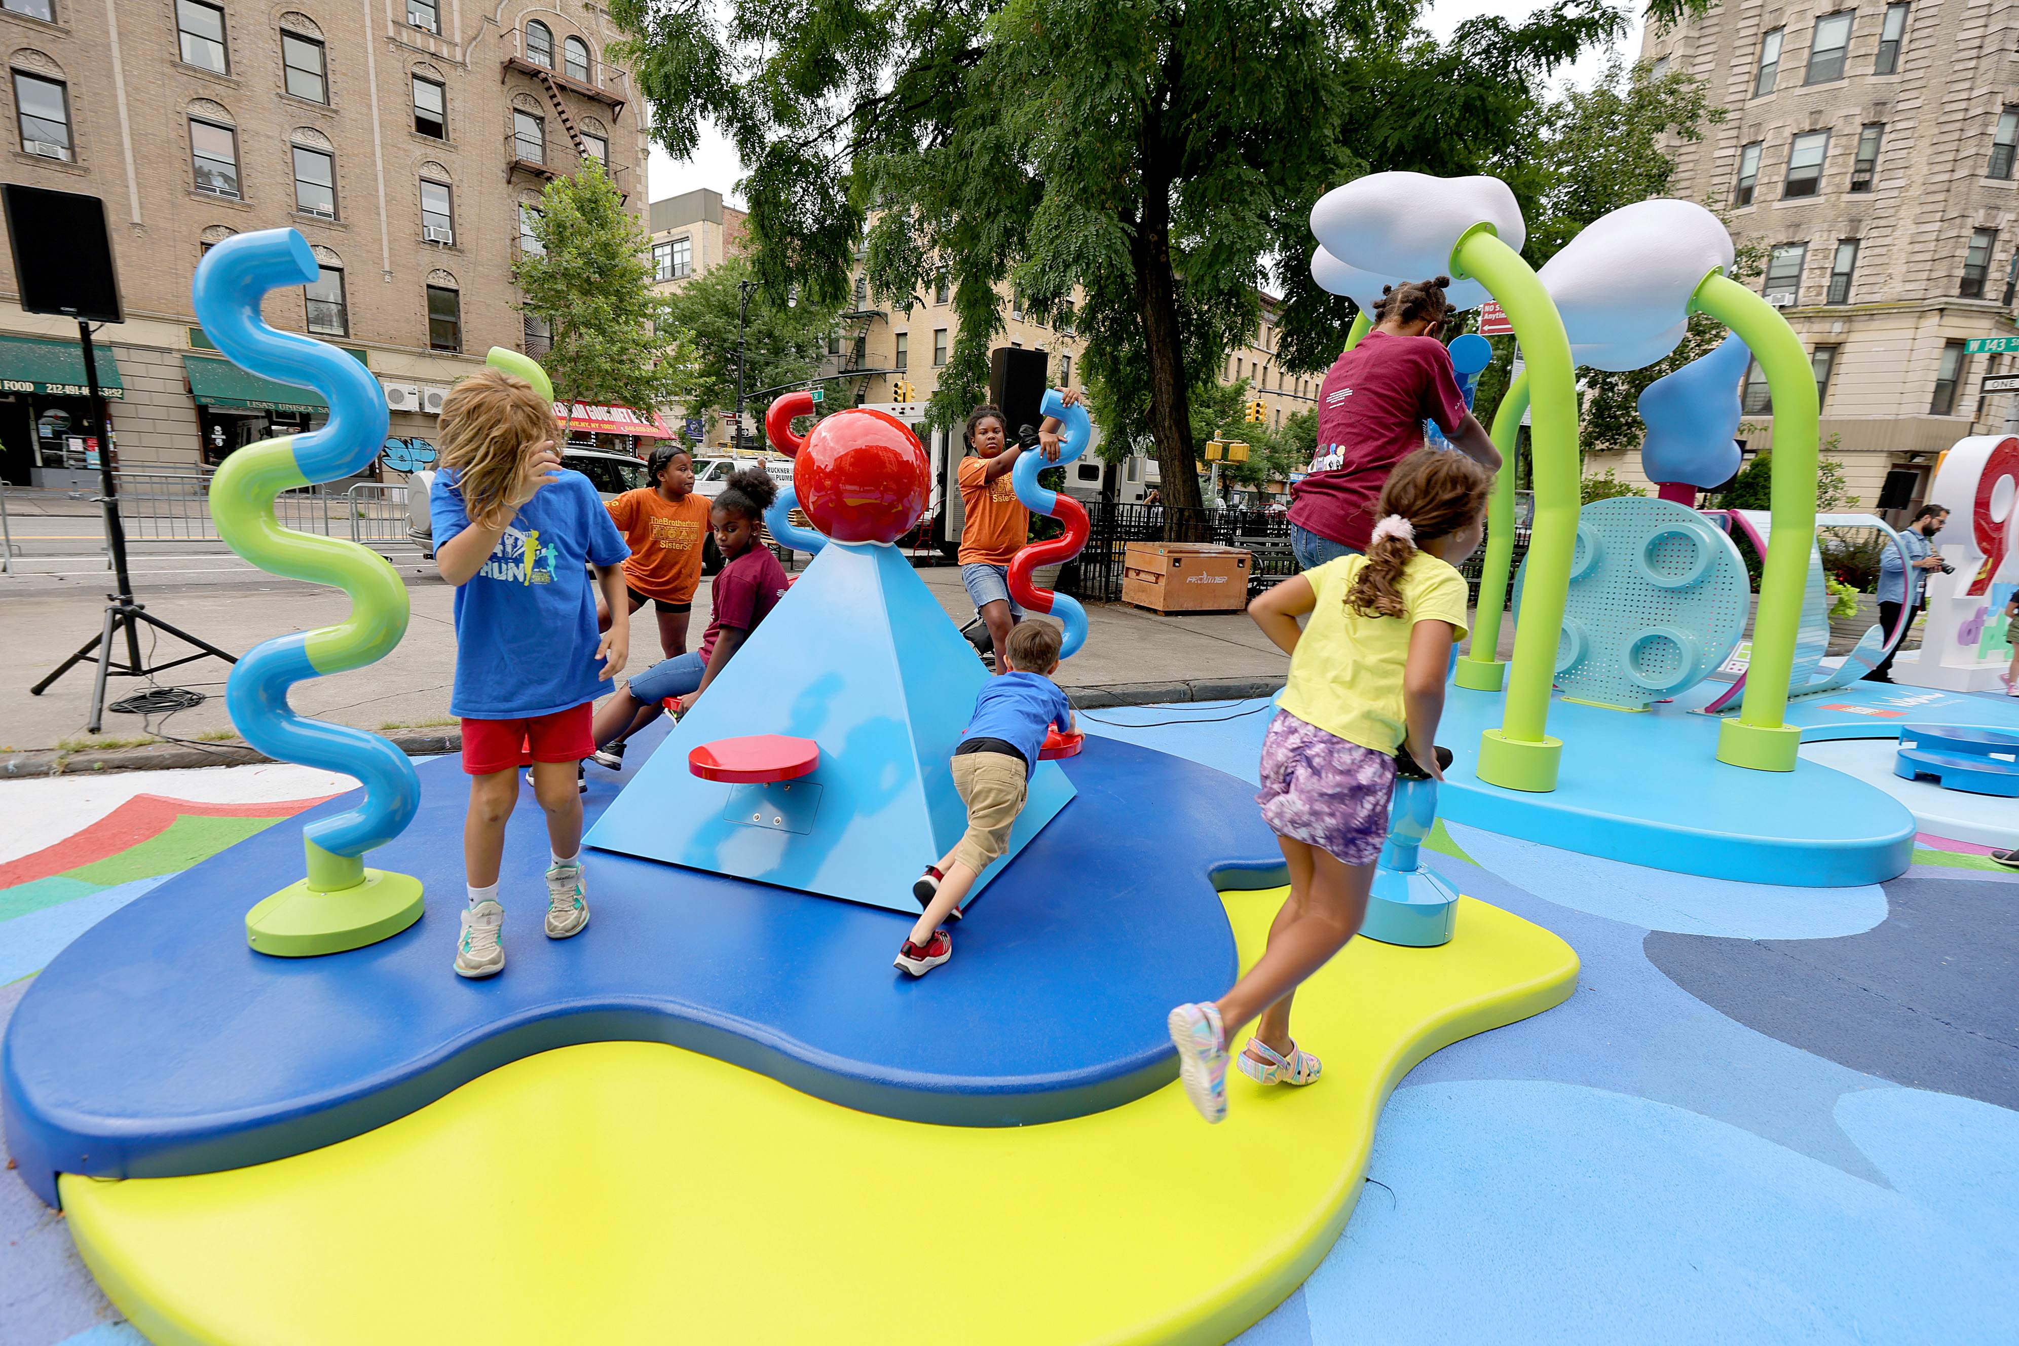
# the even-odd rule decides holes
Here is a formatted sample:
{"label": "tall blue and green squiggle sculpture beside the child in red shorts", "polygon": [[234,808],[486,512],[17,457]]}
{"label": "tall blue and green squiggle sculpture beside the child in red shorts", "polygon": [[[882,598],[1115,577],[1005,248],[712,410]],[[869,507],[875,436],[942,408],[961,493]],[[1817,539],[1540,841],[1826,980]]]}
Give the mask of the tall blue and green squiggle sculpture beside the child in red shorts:
{"label": "tall blue and green squiggle sculpture beside the child in red shorts", "polygon": [[260,952],[301,957],[357,948],[420,918],[420,882],[365,870],[361,856],[400,835],[420,807],[420,777],[406,753],[378,735],[297,714],[287,690],[305,678],[361,668],[406,634],[406,585],[392,565],[357,543],[283,529],[273,498],[363,470],[386,442],[386,398],[378,379],[337,347],[275,331],[260,319],[267,291],[307,285],[319,266],[295,230],[226,238],[196,268],[192,297],[210,341],[242,369],[313,387],[329,402],[329,424],[240,448],[210,484],[218,535],[260,569],[339,585],[349,620],[277,636],[238,660],[226,684],[232,724],[246,743],[281,761],[341,771],[365,787],[355,809],[303,827],[309,876],[246,916]]}

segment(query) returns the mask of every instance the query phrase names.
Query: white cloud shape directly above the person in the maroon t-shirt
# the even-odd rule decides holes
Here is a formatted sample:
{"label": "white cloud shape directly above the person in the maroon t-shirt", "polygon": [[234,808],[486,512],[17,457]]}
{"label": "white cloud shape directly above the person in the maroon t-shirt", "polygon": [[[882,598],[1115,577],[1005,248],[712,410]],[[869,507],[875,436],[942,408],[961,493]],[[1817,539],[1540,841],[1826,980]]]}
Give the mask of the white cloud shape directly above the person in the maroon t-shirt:
{"label": "white cloud shape directly above the person in the maroon t-shirt", "polygon": [[1474,224],[1492,224],[1516,252],[1528,240],[1520,206],[1498,178],[1367,174],[1310,208],[1310,232],[1326,252],[1357,270],[1409,281],[1450,274],[1452,248]]}

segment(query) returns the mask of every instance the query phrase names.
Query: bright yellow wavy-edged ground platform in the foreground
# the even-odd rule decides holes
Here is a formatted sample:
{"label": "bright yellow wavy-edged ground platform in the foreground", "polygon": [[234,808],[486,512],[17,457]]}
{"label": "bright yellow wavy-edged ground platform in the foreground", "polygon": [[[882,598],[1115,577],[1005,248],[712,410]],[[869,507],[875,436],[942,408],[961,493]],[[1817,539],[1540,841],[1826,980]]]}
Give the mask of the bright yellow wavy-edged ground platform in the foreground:
{"label": "bright yellow wavy-edged ground platform in the foreground", "polygon": [[[1244,965],[1282,892],[1221,894]],[[1444,948],[1333,959],[1296,1001],[1324,1078],[1230,1072],[1219,1126],[1175,1084],[1048,1126],[925,1126],[624,1041],[271,1164],[61,1189],[160,1346],[1217,1344],[1333,1247],[1395,1082],[1575,985],[1569,944],[1464,898]]]}

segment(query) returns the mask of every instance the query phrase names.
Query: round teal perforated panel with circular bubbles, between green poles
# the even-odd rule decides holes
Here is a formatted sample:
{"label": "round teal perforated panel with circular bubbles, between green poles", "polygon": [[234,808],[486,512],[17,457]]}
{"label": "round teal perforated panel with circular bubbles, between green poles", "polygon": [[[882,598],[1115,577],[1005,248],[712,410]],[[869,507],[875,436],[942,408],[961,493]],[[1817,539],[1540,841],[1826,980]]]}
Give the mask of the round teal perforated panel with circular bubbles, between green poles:
{"label": "round teal perforated panel with circular bubbles, between green poles", "polygon": [[[1528,581],[1514,583],[1514,620]],[[1557,636],[1557,690],[1641,710],[1702,682],[1744,632],[1752,589],[1738,547],[1674,500],[1619,496],[1577,519]]]}

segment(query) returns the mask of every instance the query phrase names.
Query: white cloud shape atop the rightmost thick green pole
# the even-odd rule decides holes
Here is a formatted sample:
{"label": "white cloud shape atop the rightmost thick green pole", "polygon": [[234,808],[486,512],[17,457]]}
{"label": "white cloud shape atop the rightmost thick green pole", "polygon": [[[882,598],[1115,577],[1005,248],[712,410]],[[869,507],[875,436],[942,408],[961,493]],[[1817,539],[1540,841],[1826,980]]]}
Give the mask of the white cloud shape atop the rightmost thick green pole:
{"label": "white cloud shape atop the rightmost thick green pole", "polygon": [[1633,202],[1585,226],[1543,264],[1571,353],[1593,369],[1643,369],[1682,341],[1690,295],[1732,264],[1732,236],[1694,202]]}

